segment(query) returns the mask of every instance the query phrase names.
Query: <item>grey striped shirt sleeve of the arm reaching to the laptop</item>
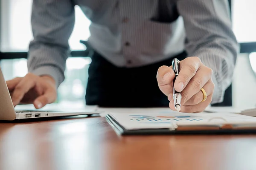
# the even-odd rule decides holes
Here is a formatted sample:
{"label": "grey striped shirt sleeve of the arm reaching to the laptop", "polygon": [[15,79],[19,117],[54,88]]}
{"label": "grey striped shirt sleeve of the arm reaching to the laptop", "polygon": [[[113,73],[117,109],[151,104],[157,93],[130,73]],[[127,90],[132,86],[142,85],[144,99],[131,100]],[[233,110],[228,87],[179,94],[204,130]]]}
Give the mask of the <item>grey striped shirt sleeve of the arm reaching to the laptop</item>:
{"label": "grey striped shirt sleeve of the arm reaching to the laptop", "polygon": [[70,54],[68,39],[75,22],[71,0],[33,0],[32,33],[28,71],[52,76],[57,88],[64,81],[66,60]]}

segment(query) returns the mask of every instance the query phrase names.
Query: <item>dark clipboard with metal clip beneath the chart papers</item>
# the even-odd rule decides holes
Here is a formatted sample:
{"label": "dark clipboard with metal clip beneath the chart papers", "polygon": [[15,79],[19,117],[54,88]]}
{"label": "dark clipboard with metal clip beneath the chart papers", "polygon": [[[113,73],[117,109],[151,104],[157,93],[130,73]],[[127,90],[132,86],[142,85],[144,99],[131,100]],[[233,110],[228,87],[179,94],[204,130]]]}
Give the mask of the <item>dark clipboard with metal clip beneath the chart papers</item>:
{"label": "dark clipboard with metal clip beneath the chart papers", "polygon": [[[120,114],[120,113],[119,113]],[[131,114],[131,113],[130,113]],[[193,113],[198,114],[198,113]],[[204,113],[202,113],[204,114]],[[209,114],[209,113],[208,113]],[[236,113],[233,116],[238,116]],[[134,128],[129,129],[123,126],[116,118],[115,114],[107,114],[105,116],[107,122],[111,125],[113,130],[118,135],[166,135],[166,134],[248,134],[256,133],[256,118],[247,116],[247,119],[252,121],[249,122],[235,122],[230,123],[223,117],[215,116],[212,113],[212,117],[208,120],[207,123],[201,124],[188,124],[188,125],[179,125],[174,120],[170,121],[167,127],[154,127],[154,128]],[[231,116],[231,115],[230,115]],[[239,115],[243,117],[244,115]],[[221,121],[216,122],[219,119]],[[221,122],[221,123],[220,123]]]}

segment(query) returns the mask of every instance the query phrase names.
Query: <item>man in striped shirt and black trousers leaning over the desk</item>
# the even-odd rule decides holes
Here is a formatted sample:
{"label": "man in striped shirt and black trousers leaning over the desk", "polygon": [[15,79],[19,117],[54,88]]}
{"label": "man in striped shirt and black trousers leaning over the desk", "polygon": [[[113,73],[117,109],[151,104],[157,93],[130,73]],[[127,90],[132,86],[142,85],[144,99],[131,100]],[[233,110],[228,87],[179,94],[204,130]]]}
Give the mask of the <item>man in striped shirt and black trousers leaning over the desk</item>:
{"label": "man in striped shirt and black trousers leaning over the desk", "polygon": [[55,101],[75,5],[92,22],[87,105],[175,110],[173,58],[181,60],[174,85],[182,95],[181,112],[200,112],[223,100],[238,51],[227,0],[33,0],[29,74],[7,81],[15,106],[41,108]]}

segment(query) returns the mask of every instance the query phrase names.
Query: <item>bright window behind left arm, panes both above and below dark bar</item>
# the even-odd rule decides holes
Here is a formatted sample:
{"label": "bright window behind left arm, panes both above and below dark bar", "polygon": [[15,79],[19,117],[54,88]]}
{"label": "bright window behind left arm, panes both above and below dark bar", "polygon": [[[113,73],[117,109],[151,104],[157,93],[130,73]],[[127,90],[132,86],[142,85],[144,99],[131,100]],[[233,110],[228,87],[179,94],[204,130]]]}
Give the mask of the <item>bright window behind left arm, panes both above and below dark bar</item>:
{"label": "bright window behind left arm, panes both above and below dark bar", "polygon": [[[30,22],[32,0],[1,0],[1,52],[26,52],[32,40]],[[90,36],[90,20],[85,17],[79,6],[75,7],[76,21],[71,34],[70,49],[85,50],[80,40],[87,40]],[[85,89],[88,78],[90,57],[71,57],[67,59],[65,81],[58,89],[58,101],[84,102]],[[27,74],[26,59],[4,59],[0,61],[4,77],[12,79]]]}

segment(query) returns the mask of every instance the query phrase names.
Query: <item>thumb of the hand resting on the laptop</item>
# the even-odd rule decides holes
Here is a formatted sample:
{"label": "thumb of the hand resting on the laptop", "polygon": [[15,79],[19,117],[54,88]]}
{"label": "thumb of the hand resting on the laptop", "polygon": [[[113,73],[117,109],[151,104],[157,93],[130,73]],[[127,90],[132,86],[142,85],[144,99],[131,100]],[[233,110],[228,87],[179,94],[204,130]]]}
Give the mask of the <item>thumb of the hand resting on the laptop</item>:
{"label": "thumb of the hand resting on the laptop", "polygon": [[56,92],[48,90],[43,95],[38,96],[38,98],[35,99],[33,104],[35,108],[40,109],[49,103],[55,102],[55,99]]}

